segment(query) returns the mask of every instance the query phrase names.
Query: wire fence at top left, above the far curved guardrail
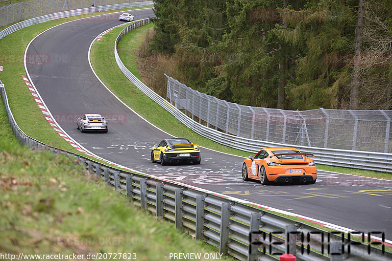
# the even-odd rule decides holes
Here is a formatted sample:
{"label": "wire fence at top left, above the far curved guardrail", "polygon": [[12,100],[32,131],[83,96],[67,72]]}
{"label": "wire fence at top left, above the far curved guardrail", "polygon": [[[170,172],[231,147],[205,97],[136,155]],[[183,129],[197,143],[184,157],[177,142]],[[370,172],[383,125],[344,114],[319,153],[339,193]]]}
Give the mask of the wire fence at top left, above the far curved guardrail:
{"label": "wire fence at top left, above the far curved guardrail", "polygon": [[8,24],[54,14],[57,12],[76,10],[94,6],[120,3],[144,2],[147,0],[35,0],[24,1],[0,7],[0,27]]}

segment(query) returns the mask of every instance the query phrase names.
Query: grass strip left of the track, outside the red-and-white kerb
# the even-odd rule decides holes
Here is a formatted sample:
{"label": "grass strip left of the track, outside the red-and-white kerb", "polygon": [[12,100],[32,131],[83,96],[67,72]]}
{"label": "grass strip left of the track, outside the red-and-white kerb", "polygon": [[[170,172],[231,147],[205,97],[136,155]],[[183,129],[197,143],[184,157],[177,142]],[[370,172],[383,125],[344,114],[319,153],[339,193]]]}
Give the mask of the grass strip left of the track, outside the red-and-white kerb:
{"label": "grass strip left of the track, outside the red-and-white kerb", "polygon": [[[122,10],[132,9],[140,8],[127,8]],[[22,74],[26,75],[25,67],[23,65],[23,57],[25,48],[31,39],[52,26],[97,14],[113,13],[117,11],[120,10],[97,12],[43,22],[18,30],[0,40],[0,64],[3,65],[3,71],[0,72],[0,80],[5,85],[5,90],[7,92],[10,108],[14,118],[26,135],[50,146],[86,156],[74,149],[56,131],[54,131],[42,114],[41,110],[38,108],[37,103],[34,101],[33,96],[21,76]],[[28,113],[26,113],[26,111],[28,111]],[[89,158],[97,160],[93,157]]]}

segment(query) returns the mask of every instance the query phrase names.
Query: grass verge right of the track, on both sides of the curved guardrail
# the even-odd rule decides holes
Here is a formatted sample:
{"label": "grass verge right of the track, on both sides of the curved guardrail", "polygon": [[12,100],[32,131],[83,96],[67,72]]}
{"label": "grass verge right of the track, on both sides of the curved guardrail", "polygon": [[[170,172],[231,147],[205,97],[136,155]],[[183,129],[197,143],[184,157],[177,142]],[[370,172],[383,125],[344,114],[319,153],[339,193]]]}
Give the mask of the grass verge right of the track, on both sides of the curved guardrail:
{"label": "grass verge right of the track, on both sides of the curved guardrail", "polygon": [[[137,87],[131,84],[118,68],[116,60],[113,56],[114,40],[122,30],[123,27],[109,32],[99,42],[94,43],[92,48],[92,65],[94,70],[99,75],[99,78],[105,83],[107,87],[109,87],[121,100],[123,100],[123,102],[141,114],[149,122],[159,127],[160,129],[171,133],[174,136],[186,137],[194,143],[213,150],[243,157],[249,156],[250,152],[244,152],[222,146],[211,141],[210,139],[196,134],[196,132],[180,123],[172,116],[171,113],[160,107],[145,94],[143,94],[142,91],[140,91]],[[142,79],[140,78],[140,74],[137,70],[138,65],[135,53],[142,44],[148,30],[152,30],[151,24],[142,26],[125,34],[117,48],[123,64],[140,80]],[[106,62],[105,64],[102,64],[98,63],[97,61]],[[391,174],[375,171],[331,167],[321,164],[318,164],[318,169],[392,180]]]}

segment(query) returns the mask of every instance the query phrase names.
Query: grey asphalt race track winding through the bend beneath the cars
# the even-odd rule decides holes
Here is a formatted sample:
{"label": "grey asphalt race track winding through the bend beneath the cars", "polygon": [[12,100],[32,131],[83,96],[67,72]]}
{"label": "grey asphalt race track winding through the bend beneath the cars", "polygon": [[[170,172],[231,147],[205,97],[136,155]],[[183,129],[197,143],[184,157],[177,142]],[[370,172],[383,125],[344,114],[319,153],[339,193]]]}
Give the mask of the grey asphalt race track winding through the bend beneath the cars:
{"label": "grey asphalt race track winding through the bend beneath the cars", "polygon": [[[151,9],[130,12],[135,20],[154,16]],[[151,163],[150,148],[169,135],[120,103],[100,84],[87,58],[91,42],[100,33],[124,23],[118,16],[62,24],[41,34],[27,50],[27,57],[49,58],[40,64],[27,61],[27,71],[51,114],[74,140],[100,157],[137,171],[357,231],[382,231],[392,239],[391,181],[319,171],[313,185],[263,186],[242,180],[243,158],[203,148],[200,165]],[[74,119],[85,113],[107,116],[109,132],[76,130]]]}

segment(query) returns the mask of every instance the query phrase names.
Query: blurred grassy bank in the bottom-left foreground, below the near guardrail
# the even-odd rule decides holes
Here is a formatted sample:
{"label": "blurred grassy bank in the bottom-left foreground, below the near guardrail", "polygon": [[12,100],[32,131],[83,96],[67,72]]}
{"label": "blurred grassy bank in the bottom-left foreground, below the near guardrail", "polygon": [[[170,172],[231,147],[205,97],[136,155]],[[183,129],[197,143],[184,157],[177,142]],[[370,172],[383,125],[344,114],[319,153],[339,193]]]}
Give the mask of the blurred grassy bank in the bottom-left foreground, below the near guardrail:
{"label": "blurred grassy bank in the bottom-left foreground, below the near guardrail", "polygon": [[2,103],[0,135],[1,253],[136,253],[150,261],[216,251],[142,212],[75,160],[21,146]]}

